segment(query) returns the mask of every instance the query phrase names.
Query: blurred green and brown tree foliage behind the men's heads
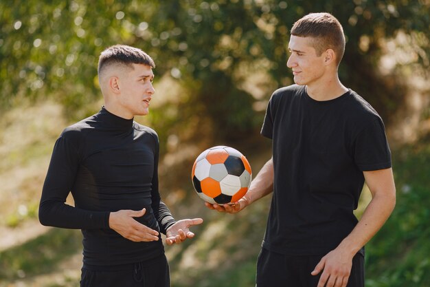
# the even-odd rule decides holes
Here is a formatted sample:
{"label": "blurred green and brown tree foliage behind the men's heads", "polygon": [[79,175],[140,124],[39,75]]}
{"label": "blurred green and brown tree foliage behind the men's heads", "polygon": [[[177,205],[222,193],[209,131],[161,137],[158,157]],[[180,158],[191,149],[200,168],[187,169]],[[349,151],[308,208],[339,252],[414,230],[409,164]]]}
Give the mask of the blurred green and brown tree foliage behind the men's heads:
{"label": "blurred green and brown tree foliage behind the men's heads", "polygon": [[[261,111],[253,109],[257,99],[242,83],[249,74],[269,74],[271,82],[262,81],[265,100],[292,83],[285,66],[288,31],[304,14],[327,11],[343,23],[348,39],[341,80],[387,121],[402,105],[405,86],[396,70],[385,77],[378,73],[387,52],[384,41],[403,33],[412,48],[400,65],[428,67],[429,7],[425,0],[5,0],[0,3],[1,105],[19,97],[50,97],[75,114],[100,98],[100,52],[124,43],[148,52],[158,75],[170,74],[185,88],[179,100],[166,103],[181,116],[155,127],[180,131],[206,118],[212,127],[207,134],[241,138],[261,123]],[[157,113],[163,111],[154,111],[153,118],[162,117]]]}

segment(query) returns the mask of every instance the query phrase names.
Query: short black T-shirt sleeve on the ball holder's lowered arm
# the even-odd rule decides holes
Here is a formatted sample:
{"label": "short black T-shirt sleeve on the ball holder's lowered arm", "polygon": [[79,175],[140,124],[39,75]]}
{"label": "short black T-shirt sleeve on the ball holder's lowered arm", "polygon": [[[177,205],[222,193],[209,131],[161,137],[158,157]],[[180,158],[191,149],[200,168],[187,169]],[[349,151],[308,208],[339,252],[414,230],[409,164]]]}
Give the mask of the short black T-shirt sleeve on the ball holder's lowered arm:
{"label": "short black T-shirt sleeve on the ball holder's lowered arm", "polygon": [[374,119],[355,139],[354,159],[361,171],[376,171],[392,166],[391,152],[381,118]]}

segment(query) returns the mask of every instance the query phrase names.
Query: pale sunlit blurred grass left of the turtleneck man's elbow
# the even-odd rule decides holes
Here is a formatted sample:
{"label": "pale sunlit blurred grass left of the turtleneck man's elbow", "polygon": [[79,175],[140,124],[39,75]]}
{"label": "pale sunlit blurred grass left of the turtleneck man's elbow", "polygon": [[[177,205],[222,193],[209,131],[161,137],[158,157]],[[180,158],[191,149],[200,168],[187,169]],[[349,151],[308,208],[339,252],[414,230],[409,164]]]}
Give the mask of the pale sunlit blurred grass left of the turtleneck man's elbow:
{"label": "pale sunlit blurred grass left of the turtleneck man's elbow", "polygon": [[23,103],[1,114],[0,224],[19,226],[35,217],[50,153],[65,125],[61,110]]}

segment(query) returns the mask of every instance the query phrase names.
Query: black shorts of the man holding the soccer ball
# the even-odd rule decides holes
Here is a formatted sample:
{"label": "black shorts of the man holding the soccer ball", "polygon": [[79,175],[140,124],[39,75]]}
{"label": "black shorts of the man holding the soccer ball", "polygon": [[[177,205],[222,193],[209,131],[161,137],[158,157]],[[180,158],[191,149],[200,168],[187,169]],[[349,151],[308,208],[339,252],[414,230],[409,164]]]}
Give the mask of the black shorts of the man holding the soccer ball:
{"label": "black shorts of the man holding the soccer ball", "polygon": [[[323,256],[291,256],[262,248],[257,259],[256,287],[317,287],[319,275],[310,275]],[[352,259],[347,287],[364,287],[364,256]]]}

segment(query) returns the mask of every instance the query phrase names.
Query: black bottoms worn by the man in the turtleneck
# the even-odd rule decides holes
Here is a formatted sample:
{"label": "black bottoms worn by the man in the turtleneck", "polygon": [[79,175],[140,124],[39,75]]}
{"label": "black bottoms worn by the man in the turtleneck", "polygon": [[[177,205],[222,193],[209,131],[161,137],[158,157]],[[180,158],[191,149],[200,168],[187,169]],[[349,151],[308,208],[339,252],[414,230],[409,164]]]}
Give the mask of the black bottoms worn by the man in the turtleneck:
{"label": "black bottoms worn by the man in the turtleneck", "polygon": [[166,256],[117,266],[82,266],[80,287],[169,287]]}

